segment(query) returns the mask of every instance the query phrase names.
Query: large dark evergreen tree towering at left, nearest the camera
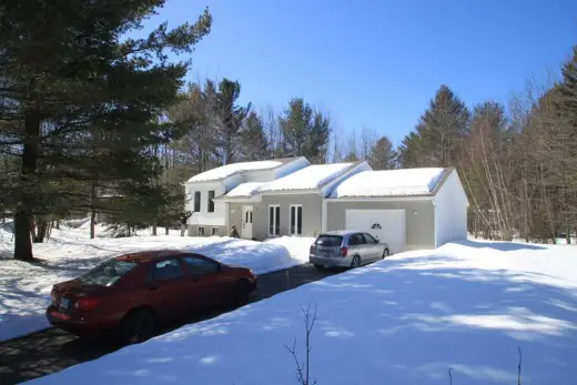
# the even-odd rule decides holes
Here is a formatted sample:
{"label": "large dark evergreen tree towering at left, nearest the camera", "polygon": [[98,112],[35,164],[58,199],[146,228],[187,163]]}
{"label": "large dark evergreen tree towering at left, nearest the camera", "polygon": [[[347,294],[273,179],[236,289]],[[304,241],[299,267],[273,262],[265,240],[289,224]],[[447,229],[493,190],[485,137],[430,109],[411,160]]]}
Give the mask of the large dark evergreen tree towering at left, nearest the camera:
{"label": "large dark evergreen tree towering at left, nearest the camera", "polygon": [[142,180],[150,180],[150,169],[141,168],[150,156],[144,149],[179,133],[156,116],[175,102],[188,63],[169,62],[165,51],[191,52],[210,30],[210,13],[194,24],[170,30],[163,23],[145,38],[120,40],[163,3],[2,1],[0,145],[21,159],[16,259],[32,260],[32,216],[47,211],[45,201],[70,196],[71,181],[95,179],[85,165],[91,130],[102,131],[108,145],[93,158],[105,162],[100,170],[130,170]]}

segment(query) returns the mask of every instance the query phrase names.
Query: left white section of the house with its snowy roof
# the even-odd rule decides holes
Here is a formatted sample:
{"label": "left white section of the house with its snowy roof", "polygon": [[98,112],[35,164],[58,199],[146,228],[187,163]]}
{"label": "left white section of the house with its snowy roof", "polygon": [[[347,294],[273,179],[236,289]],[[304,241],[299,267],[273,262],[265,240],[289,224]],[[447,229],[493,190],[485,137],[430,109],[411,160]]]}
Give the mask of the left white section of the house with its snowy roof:
{"label": "left white section of the house with its snowy roof", "polygon": [[229,234],[229,212],[214,197],[226,194],[242,183],[262,183],[283,178],[307,166],[306,158],[284,158],[270,161],[231,163],[205,171],[184,182],[189,235]]}

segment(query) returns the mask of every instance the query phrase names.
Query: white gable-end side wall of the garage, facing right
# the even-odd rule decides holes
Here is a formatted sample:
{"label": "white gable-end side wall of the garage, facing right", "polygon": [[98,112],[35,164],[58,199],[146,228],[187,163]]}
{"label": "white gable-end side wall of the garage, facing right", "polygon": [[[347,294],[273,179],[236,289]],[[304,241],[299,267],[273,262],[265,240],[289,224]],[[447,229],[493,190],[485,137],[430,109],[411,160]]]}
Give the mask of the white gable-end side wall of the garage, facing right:
{"label": "white gable-end side wall of the garage, facing right", "polygon": [[453,171],[433,199],[436,247],[467,237],[468,200],[456,171]]}

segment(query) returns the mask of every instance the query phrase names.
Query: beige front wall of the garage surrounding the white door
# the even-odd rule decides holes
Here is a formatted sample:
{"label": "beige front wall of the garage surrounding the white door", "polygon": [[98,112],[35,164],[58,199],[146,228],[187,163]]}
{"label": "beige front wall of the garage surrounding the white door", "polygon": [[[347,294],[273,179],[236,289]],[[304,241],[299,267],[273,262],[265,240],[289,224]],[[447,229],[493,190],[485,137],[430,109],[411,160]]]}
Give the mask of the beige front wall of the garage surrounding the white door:
{"label": "beige front wall of the garage surrounding the white door", "polygon": [[[326,230],[346,230],[346,210],[405,210],[406,250],[435,247],[435,213],[432,201],[326,200]],[[416,215],[413,212],[416,210]]]}

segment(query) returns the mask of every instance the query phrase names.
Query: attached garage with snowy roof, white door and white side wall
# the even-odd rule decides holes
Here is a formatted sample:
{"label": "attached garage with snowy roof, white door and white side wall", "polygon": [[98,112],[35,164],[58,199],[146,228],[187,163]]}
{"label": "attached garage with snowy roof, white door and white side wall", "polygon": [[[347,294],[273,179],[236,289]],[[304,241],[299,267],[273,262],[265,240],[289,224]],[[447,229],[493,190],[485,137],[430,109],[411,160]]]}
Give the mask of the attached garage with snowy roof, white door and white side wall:
{"label": "attached garage with snowy roof, white door and white side wall", "polygon": [[393,253],[467,237],[468,200],[455,169],[363,171],[323,201],[323,231],[357,230]]}

